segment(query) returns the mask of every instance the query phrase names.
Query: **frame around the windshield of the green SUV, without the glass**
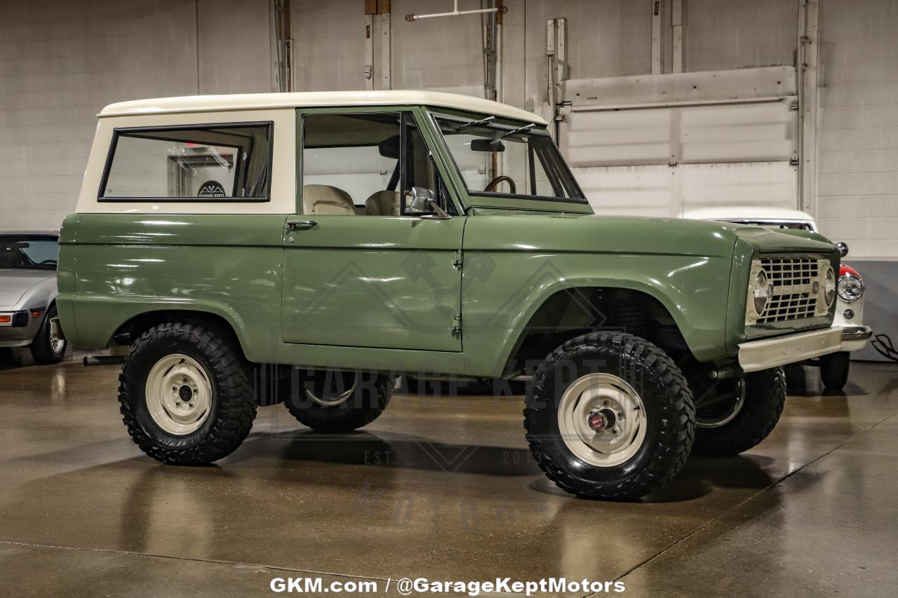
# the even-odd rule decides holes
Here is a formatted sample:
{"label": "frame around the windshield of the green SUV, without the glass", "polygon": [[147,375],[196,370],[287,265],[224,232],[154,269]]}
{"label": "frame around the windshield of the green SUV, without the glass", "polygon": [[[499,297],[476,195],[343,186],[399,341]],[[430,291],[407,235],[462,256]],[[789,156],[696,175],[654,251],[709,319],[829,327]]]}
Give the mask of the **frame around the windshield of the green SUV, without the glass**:
{"label": "frame around the windshield of the green SUV, without the glass", "polygon": [[[459,112],[455,110],[434,110],[428,109],[428,116],[431,121],[431,126],[433,127],[434,132],[436,133],[436,141],[441,145],[443,153],[446,156],[446,159],[449,165],[453,169],[453,174],[457,180],[461,183],[462,189],[465,192],[465,200],[464,204],[466,207],[490,207],[490,208],[505,208],[505,209],[525,209],[525,210],[541,210],[541,211],[550,211],[550,212],[568,212],[568,213],[578,213],[578,214],[593,214],[593,209],[590,207],[589,200],[585,198],[585,194],[583,189],[580,188],[579,183],[577,182],[577,178],[574,176],[574,173],[570,170],[568,163],[565,161],[564,157],[561,155],[559,151],[558,145],[555,145],[554,140],[551,138],[549,131],[547,130],[545,125],[540,123],[536,123],[533,128],[526,132],[528,136],[541,136],[546,137],[550,140],[551,151],[554,152],[555,157],[557,157],[558,168],[561,169],[561,174],[563,177],[568,178],[569,190],[571,193],[578,194],[579,197],[572,198],[558,198],[551,196],[543,196],[543,195],[530,195],[527,193],[501,193],[496,191],[481,191],[479,189],[471,189],[468,186],[468,182],[464,180],[462,176],[462,171],[458,166],[458,163],[455,161],[455,156],[452,150],[449,147],[445,139],[445,134],[443,133],[443,129],[440,127],[440,123],[438,119],[444,119],[449,121],[455,121],[458,123],[466,123],[473,122],[479,119],[483,119],[484,117],[494,116],[489,114],[480,114],[480,113],[467,113],[467,112]],[[490,124],[489,128],[496,128],[497,130],[505,130],[512,131],[516,128],[524,127],[525,125],[529,125],[532,123],[524,122],[523,120],[511,120],[504,118],[496,118]],[[547,172],[547,175],[549,173]],[[564,181],[558,181],[559,184],[565,186]]]}

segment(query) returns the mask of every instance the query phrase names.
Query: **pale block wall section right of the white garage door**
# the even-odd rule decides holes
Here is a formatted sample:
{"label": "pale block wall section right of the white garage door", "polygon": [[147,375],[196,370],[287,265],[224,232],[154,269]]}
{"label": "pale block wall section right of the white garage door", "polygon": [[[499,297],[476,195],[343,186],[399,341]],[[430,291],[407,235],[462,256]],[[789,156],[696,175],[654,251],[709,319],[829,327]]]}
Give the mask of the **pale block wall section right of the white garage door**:
{"label": "pale block wall section right of the white garage door", "polygon": [[816,215],[852,259],[898,259],[898,6],[823,0]]}

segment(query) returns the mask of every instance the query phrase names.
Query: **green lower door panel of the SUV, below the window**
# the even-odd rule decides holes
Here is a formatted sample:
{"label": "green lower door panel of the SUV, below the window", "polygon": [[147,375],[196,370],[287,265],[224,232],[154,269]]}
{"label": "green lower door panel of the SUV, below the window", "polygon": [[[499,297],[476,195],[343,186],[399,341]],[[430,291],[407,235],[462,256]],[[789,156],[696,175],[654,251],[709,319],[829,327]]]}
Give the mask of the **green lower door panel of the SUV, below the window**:
{"label": "green lower door panel of the SUV, below the window", "polygon": [[284,252],[287,343],[461,351],[465,216],[310,216]]}

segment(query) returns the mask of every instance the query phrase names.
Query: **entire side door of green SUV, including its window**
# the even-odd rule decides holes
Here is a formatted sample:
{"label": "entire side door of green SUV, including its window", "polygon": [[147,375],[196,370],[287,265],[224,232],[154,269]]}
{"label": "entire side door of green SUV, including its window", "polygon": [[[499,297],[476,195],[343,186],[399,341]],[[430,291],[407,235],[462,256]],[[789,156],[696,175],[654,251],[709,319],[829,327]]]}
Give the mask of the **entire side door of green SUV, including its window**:
{"label": "entire side door of green SUV, including its window", "polygon": [[[461,351],[465,216],[412,113],[297,116],[302,214],[286,223],[284,341]],[[452,217],[401,215],[412,186]]]}

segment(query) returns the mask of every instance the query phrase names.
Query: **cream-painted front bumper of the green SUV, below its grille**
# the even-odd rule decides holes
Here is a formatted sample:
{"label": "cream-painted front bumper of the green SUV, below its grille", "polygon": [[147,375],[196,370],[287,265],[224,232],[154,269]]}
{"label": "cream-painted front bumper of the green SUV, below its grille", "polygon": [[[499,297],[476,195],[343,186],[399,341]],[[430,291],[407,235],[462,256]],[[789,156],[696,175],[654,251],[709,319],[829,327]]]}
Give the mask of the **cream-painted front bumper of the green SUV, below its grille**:
{"label": "cream-painted front bumper of the green SUV, below its grille", "polygon": [[757,372],[841,351],[841,343],[841,326],[752,340],[739,345],[739,365],[746,373]]}

